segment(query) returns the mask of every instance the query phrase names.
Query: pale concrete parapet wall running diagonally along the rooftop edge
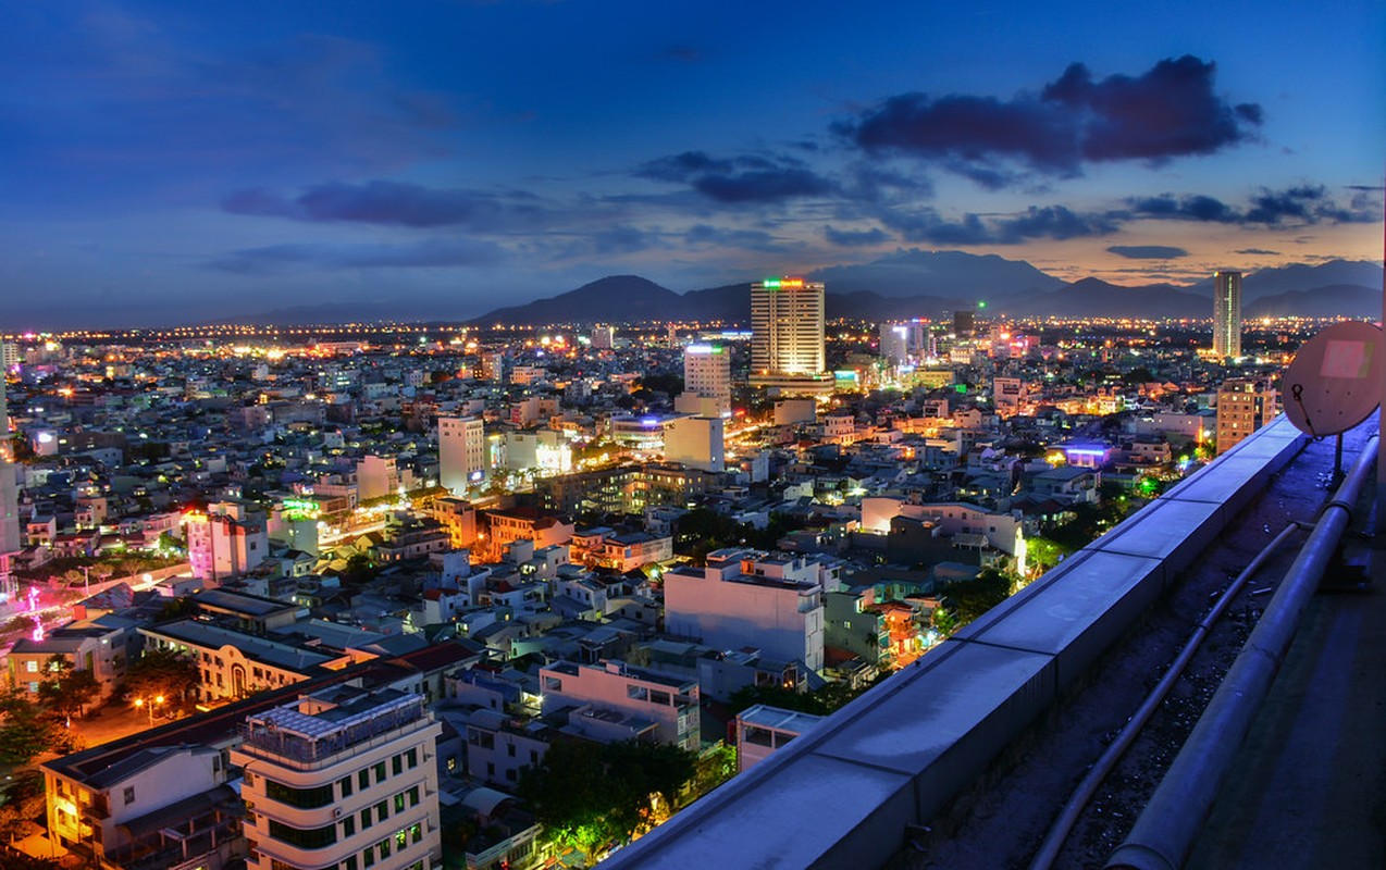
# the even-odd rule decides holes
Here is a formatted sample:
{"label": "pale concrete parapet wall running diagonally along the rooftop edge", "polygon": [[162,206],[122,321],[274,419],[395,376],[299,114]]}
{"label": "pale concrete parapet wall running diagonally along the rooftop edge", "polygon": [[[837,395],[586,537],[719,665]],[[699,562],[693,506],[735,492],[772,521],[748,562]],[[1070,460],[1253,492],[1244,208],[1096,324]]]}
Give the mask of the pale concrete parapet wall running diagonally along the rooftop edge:
{"label": "pale concrete parapet wall running diagonally along the rooftop edge", "polygon": [[1293,459],[1282,416],[603,867],[875,867],[972,785]]}

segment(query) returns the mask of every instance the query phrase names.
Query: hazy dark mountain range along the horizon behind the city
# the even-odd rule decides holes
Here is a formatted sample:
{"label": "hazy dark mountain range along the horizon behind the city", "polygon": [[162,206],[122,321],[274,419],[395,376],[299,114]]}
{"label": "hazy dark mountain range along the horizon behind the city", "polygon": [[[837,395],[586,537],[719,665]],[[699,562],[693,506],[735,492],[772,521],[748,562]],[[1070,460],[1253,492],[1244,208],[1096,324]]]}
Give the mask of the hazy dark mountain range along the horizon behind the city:
{"label": "hazy dark mountain range along the horizon behind the city", "polygon": [[[1023,260],[962,251],[904,251],[862,266],[832,266],[804,276],[827,285],[829,319],[890,320],[937,317],[985,299],[1010,316],[1056,317],[1210,317],[1213,280],[1117,285],[1099,278],[1066,283]],[[500,308],[477,326],[547,323],[639,323],[721,320],[747,323],[751,280],[678,294],[639,276],[608,276],[525,305]],[[1382,267],[1329,260],[1263,269],[1242,281],[1246,317],[1380,317]]]}

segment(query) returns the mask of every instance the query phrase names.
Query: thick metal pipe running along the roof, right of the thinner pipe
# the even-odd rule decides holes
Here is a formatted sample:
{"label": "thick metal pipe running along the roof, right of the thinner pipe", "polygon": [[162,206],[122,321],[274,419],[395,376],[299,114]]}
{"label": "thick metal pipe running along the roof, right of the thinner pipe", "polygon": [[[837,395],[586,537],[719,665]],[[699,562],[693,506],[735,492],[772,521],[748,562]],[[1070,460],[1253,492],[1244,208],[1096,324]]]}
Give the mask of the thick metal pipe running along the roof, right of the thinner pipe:
{"label": "thick metal pipe running along the roof, right of the thinner pipe", "polygon": [[1188,860],[1295,639],[1300,616],[1351,521],[1351,508],[1376,463],[1378,439],[1379,435],[1372,435],[1367,441],[1353,471],[1324,507],[1246,647],[1232,662],[1135,827],[1107,859],[1106,870],[1178,870]]}

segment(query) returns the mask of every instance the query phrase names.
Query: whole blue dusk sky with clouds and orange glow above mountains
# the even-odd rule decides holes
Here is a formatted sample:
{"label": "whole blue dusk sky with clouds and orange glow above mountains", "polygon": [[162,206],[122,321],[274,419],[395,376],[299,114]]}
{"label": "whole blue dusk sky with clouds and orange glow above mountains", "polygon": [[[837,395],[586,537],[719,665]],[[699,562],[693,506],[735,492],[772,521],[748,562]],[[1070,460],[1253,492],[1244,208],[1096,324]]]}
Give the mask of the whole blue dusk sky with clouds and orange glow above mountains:
{"label": "whole blue dusk sky with clouds and orange glow above mountains", "polygon": [[1380,0],[17,0],[0,327],[1379,260],[1383,46]]}

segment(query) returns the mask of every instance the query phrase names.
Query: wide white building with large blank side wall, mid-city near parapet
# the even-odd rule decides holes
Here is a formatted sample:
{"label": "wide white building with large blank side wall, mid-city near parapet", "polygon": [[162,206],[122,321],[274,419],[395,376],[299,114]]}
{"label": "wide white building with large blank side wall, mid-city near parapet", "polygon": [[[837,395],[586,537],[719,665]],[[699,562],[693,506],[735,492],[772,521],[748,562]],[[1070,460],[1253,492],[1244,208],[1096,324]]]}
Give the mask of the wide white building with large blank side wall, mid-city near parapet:
{"label": "wide white building with large blank side wall, mid-city near parapet", "polygon": [[823,590],[837,580],[818,568],[755,550],[714,550],[705,568],[664,574],[665,632],[725,650],[758,647],[821,671]]}

